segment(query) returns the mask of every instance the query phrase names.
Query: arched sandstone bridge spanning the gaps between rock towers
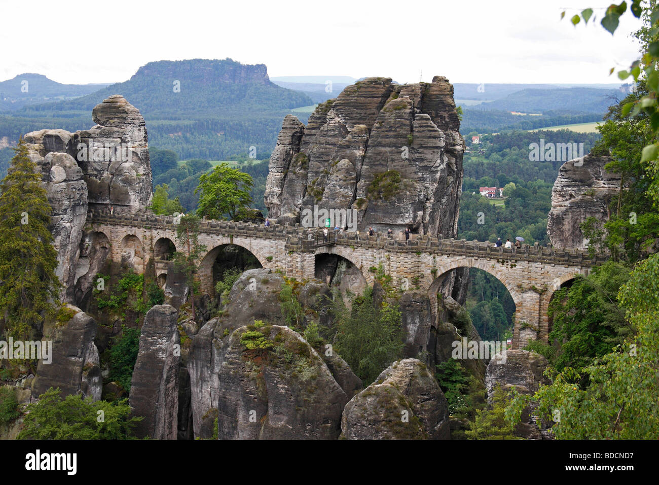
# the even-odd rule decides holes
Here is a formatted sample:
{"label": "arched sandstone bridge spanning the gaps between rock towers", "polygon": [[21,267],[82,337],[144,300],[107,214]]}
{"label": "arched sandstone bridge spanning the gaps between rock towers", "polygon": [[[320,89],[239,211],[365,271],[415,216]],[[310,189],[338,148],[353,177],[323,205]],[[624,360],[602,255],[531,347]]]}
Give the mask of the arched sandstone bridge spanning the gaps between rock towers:
{"label": "arched sandstone bridge spanning the gaps between rock towers", "polygon": [[[173,217],[90,212],[87,224],[107,237],[109,257],[113,261],[130,258],[137,271],[144,271],[146,263],[154,259],[156,275],[166,278],[169,263],[164,248],[173,249],[177,243]],[[538,245],[504,248],[490,242],[429,236],[415,236],[416,239],[406,242],[387,238],[382,233],[365,236],[330,231],[330,241],[326,243],[322,232],[315,235],[310,240],[308,231],[300,227],[266,228],[261,224],[203,220],[199,241],[205,250],[198,271],[202,291],[214,293],[215,258],[229,244],[252,253],[262,267],[300,280],[314,278],[316,256],[327,253],[350,261],[368,284],[373,284],[374,270],[382,264],[397,287],[428,292],[437,318],[436,294],[444,278],[459,267],[478,268],[496,276],[510,292],[516,307],[513,348],[521,348],[532,339],[547,341],[550,331],[547,310],[554,292],[575,276],[587,275],[590,267],[607,259],[605,255],[592,258],[585,251],[570,249]]]}

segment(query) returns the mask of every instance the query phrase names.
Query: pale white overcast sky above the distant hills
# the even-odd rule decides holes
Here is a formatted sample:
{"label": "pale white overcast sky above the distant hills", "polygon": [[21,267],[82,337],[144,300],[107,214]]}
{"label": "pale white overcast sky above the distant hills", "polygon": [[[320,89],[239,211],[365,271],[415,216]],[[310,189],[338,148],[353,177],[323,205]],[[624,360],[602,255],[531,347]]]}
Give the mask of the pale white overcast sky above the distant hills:
{"label": "pale white overcast sky above the distant hills", "polygon": [[[609,70],[636,58],[639,21],[625,13],[611,36],[599,24],[611,1],[0,0],[0,80],[121,82],[150,61],[231,57],[271,77],[618,82]],[[596,24],[575,28],[586,7],[600,7]]]}

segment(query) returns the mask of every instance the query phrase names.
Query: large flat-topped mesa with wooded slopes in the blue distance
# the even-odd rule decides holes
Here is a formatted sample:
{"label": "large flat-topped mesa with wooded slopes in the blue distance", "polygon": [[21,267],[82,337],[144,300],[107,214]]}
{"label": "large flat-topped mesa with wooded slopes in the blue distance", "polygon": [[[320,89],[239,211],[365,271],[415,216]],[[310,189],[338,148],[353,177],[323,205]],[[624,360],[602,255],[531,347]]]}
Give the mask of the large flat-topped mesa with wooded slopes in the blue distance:
{"label": "large flat-topped mesa with wooded slopes in the blue distance", "polygon": [[158,61],[140,67],[129,81],[88,96],[0,115],[0,139],[15,143],[24,133],[49,127],[89,129],[92,109],[111,94],[121,94],[140,110],[150,146],[207,160],[246,155],[250,146],[256,147],[257,158],[270,156],[285,115],[313,104],[305,94],[270,82],[262,64]]}

